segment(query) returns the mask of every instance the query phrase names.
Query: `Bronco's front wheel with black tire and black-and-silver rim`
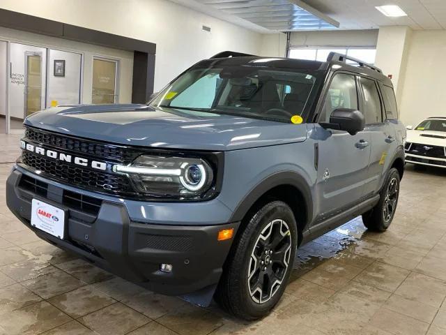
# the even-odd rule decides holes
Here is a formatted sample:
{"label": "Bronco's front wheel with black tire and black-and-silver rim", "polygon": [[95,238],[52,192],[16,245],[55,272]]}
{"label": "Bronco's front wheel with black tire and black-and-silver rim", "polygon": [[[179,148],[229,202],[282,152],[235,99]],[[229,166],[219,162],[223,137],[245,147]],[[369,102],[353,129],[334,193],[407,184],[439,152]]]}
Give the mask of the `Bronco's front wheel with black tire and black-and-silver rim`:
{"label": "Bronco's front wheel with black tire and black-and-silver rim", "polygon": [[284,293],[297,244],[297,225],[291,208],[282,201],[261,207],[242,223],[233,242],[215,292],[217,303],[245,320],[268,315]]}

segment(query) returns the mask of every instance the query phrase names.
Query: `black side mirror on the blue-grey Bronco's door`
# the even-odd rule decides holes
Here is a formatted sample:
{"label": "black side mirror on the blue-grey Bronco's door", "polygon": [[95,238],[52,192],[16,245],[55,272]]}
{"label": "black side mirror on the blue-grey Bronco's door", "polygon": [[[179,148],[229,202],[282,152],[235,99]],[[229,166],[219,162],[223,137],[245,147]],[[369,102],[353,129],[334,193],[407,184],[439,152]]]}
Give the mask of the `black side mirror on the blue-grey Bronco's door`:
{"label": "black side mirror on the blue-grey Bronco's door", "polygon": [[364,115],[359,110],[349,108],[338,108],[330,116],[330,123],[321,124],[323,128],[332,128],[346,131],[350,135],[356,135],[365,128]]}

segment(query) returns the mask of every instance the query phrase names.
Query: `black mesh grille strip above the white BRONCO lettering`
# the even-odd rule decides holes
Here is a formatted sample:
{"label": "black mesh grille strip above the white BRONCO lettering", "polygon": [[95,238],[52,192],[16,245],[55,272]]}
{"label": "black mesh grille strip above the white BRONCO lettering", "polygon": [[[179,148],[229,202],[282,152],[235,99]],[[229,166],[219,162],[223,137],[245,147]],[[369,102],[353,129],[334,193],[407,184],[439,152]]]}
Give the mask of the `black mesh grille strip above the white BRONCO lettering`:
{"label": "black mesh grille strip above the white BRONCO lettering", "polygon": [[79,137],[71,137],[36,128],[26,128],[25,137],[31,142],[49,145],[64,151],[74,151],[79,154],[107,158],[118,161],[132,161],[138,156],[138,151],[115,144],[105,144]]}

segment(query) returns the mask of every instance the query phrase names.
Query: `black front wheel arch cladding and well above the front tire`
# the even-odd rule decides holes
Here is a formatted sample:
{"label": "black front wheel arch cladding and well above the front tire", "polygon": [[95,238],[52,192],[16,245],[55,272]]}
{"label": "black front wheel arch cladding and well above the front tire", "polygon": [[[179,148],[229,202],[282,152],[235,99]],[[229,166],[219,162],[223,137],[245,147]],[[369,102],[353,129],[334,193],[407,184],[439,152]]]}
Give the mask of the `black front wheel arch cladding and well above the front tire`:
{"label": "black front wheel arch cladding and well above the front tire", "polygon": [[307,228],[312,220],[313,200],[307,181],[295,172],[277,172],[263,179],[241,200],[231,221],[243,221],[248,214],[271,200],[282,200],[291,207],[298,223],[298,232]]}

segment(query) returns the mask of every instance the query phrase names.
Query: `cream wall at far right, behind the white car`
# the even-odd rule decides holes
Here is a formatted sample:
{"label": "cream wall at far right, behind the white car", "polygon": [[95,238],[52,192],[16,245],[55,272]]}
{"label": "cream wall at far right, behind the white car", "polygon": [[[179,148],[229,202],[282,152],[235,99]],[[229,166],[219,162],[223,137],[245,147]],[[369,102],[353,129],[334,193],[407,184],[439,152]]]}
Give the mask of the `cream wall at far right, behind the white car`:
{"label": "cream wall at far right, behind the white car", "polygon": [[426,117],[446,117],[444,78],[440,62],[446,54],[446,31],[413,31],[403,78],[400,119],[415,125]]}

